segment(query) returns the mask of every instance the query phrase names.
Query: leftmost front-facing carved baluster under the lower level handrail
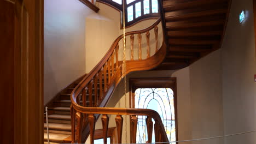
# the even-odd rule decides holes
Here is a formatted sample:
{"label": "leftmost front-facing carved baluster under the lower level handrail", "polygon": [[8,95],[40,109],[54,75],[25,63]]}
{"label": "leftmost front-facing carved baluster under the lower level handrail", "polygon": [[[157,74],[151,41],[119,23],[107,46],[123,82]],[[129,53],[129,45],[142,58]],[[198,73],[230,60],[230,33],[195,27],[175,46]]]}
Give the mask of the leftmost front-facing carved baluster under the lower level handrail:
{"label": "leftmost front-facing carved baluster under the lower level handrail", "polygon": [[83,115],[80,112],[75,113],[75,119],[77,123],[77,129],[75,131],[75,141],[77,143],[82,143],[82,127],[83,127]]}

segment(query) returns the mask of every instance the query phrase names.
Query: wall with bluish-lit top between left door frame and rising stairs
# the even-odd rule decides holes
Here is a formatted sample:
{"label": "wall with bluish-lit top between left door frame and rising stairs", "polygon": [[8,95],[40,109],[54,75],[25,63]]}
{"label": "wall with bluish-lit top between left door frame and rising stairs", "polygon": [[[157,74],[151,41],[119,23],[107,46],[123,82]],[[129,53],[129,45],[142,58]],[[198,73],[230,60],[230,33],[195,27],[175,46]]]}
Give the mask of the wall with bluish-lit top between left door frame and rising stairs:
{"label": "wall with bluish-lit top between left door frame and rising stairs", "polygon": [[85,17],[78,0],[44,1],[44,104],[85,74]]}

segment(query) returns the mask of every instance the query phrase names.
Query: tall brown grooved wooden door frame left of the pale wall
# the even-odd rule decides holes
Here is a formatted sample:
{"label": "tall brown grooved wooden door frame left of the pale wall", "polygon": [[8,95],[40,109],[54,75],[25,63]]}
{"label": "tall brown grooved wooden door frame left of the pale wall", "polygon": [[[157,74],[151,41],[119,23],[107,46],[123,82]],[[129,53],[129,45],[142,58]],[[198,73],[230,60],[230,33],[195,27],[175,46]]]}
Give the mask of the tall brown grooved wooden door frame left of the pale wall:
{"label": "tall brown grooved wooden door frame left of the pale wall", "polygon": [[14,143],[43,143],[44,0],[13,0]]}

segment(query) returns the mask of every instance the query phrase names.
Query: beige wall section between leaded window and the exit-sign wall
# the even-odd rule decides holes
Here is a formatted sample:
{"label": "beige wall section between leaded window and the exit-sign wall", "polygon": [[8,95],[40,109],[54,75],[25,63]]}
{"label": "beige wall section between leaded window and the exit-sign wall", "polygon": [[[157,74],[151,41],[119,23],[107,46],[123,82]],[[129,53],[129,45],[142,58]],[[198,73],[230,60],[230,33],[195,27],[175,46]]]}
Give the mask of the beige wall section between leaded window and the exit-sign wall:
{"label": "beige wall section between leaded window and the exit-sign wall", "polygon": [[[190,115],[193,139],[219,136],[223,129],[223,101],[220,50],[193,63],[190,69]],[[223,143],[223,139],[192,143]]]}

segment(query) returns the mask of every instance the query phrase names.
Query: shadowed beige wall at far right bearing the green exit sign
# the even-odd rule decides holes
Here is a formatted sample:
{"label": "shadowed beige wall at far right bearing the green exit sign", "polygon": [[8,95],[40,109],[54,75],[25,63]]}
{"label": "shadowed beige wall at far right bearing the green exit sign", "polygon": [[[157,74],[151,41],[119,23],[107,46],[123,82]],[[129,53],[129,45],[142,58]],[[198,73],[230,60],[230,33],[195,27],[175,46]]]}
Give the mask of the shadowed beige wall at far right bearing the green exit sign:
{"label": "shadowed beige wall at far right bearing the green exit sign", "polygon": [[[242,24],[238,15],[245,10]],[[256,129],[256,74],[253,1],[233,0],[222,46],[223,106],[225,134]],[[255,143],[255,133],[232,136],[226,144]]]}

